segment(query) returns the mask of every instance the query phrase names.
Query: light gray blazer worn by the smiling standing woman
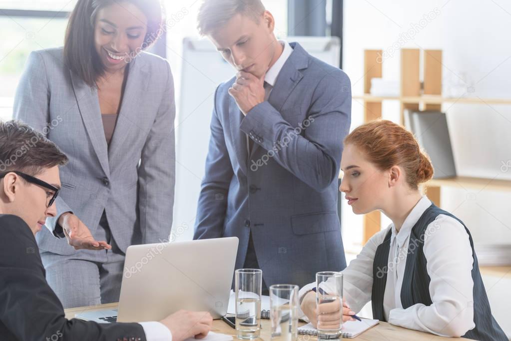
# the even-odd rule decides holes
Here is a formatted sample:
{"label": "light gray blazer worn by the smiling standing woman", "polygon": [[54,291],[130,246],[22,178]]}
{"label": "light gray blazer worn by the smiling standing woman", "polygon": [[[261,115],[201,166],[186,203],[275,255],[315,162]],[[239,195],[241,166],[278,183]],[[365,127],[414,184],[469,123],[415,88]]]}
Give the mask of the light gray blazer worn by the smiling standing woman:
{"label": "light gray blazer worn by the smiling standing woman", "polygon": [[58,215],[48,218],[48,229],[37,234],[39,248],[61,255],[75,252],[57,226],[66,211],[74,212],[94,235],[106,210],[111,233],[124,252],[132,244],[168,239],[175,184],[169,63],[149,53],[131,62],[108,147],[98,91],[64,65],[62,51],[30,54],[14,101],[14,118],[43,132],[69,158],[60,170]]}

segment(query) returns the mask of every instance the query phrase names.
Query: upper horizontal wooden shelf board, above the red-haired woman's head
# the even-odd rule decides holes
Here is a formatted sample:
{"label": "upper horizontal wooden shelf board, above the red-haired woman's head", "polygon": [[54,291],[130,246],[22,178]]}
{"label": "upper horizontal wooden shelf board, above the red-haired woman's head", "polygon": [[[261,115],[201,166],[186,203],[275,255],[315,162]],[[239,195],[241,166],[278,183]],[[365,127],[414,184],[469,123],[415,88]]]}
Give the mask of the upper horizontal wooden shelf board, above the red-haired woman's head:
{"label": "upper horizontal wooden shelf board, above the red-haired woman's head", "polygon": [[363,100],[365,102],[379,103],[382,101],[400,101],[410,104],[442,104],[442,103],[464,103],[464,104],[511,104],[511,99],[485,99],[478,97],[448,98],[438,95],[422,96],[374,96],[370,94],[355,95],[354,100]]}

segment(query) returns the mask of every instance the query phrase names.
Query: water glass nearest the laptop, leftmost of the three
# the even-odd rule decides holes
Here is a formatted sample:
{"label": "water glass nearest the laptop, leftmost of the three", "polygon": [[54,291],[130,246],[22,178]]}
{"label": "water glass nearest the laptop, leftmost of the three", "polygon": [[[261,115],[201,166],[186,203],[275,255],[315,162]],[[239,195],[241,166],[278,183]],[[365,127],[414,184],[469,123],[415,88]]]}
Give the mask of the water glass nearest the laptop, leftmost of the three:
{"label": "water glass nearest the laptop, leftmost of the three", "polygon": [[261,332],[261,287],[263,271],[235,271],[236,336],[241,339],[259,338]]}

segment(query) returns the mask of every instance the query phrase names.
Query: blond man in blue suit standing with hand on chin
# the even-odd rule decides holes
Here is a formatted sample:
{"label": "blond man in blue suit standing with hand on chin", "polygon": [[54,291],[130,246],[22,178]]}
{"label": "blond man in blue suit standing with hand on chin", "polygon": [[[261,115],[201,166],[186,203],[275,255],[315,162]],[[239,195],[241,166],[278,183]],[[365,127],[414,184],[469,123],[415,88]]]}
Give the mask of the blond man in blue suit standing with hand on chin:
{"label": "blond man in blue suit standing with hand on chin", "polygon": [[265,286],[346,266],[337,213],[344,72],[275,38],[260,0],[206,0],[198,27],[236,77],[218,86],[195,238],[237,236],[236,267]]}

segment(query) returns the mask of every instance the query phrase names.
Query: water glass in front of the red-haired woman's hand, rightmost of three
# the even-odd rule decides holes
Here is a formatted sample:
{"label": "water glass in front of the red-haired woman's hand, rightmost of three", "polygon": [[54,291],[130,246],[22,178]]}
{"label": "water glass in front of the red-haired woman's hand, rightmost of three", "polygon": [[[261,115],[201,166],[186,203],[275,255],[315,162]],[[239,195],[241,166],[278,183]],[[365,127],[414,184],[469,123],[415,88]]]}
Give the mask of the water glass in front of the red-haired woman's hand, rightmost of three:
{"label": "water glass in front of the red-haired woman's hand, rightmost of three", "polygon": [[[318,272],[316,274],[316,299],[318,320],[320,305],[329,304],[329,310],[339,309],[339,321],[329,322],[329,327],[321,327],[318,323],[318,340],[340,339],[342,336],[342,274],[340,272]],[[334,305],[339,305],[338,307]],[[335,308],[335,309],[334,309]]]}

